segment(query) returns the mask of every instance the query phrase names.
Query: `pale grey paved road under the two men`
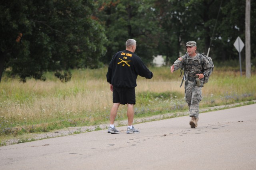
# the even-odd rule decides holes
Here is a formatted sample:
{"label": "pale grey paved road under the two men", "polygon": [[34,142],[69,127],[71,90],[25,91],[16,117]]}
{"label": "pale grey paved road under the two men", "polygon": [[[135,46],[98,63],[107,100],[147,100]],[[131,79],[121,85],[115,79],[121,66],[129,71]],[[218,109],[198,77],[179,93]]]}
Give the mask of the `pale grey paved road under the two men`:
{"label": "pale grey paved road under the two men", "polygon": [[252,170],[256,104],[0,147],[1,170]]}

